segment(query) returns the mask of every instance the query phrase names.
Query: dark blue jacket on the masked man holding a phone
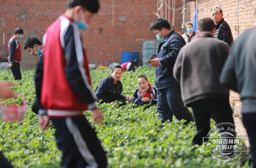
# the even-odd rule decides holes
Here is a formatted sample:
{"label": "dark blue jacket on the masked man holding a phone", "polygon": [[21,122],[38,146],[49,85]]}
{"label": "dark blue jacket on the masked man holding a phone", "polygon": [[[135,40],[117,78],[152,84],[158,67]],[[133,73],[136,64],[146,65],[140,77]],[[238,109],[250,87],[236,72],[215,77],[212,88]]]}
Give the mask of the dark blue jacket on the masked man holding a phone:
{"label": "dark blue jacket on the masked man holding a phone", "polygon": [[173,77],[173,67],[180,52],[186,45],[185,40],[174,30],[170,32],[166,40],[160,42],[157,58],[162,65],[156,67],[155,85],[158,89],[180,86]]}

